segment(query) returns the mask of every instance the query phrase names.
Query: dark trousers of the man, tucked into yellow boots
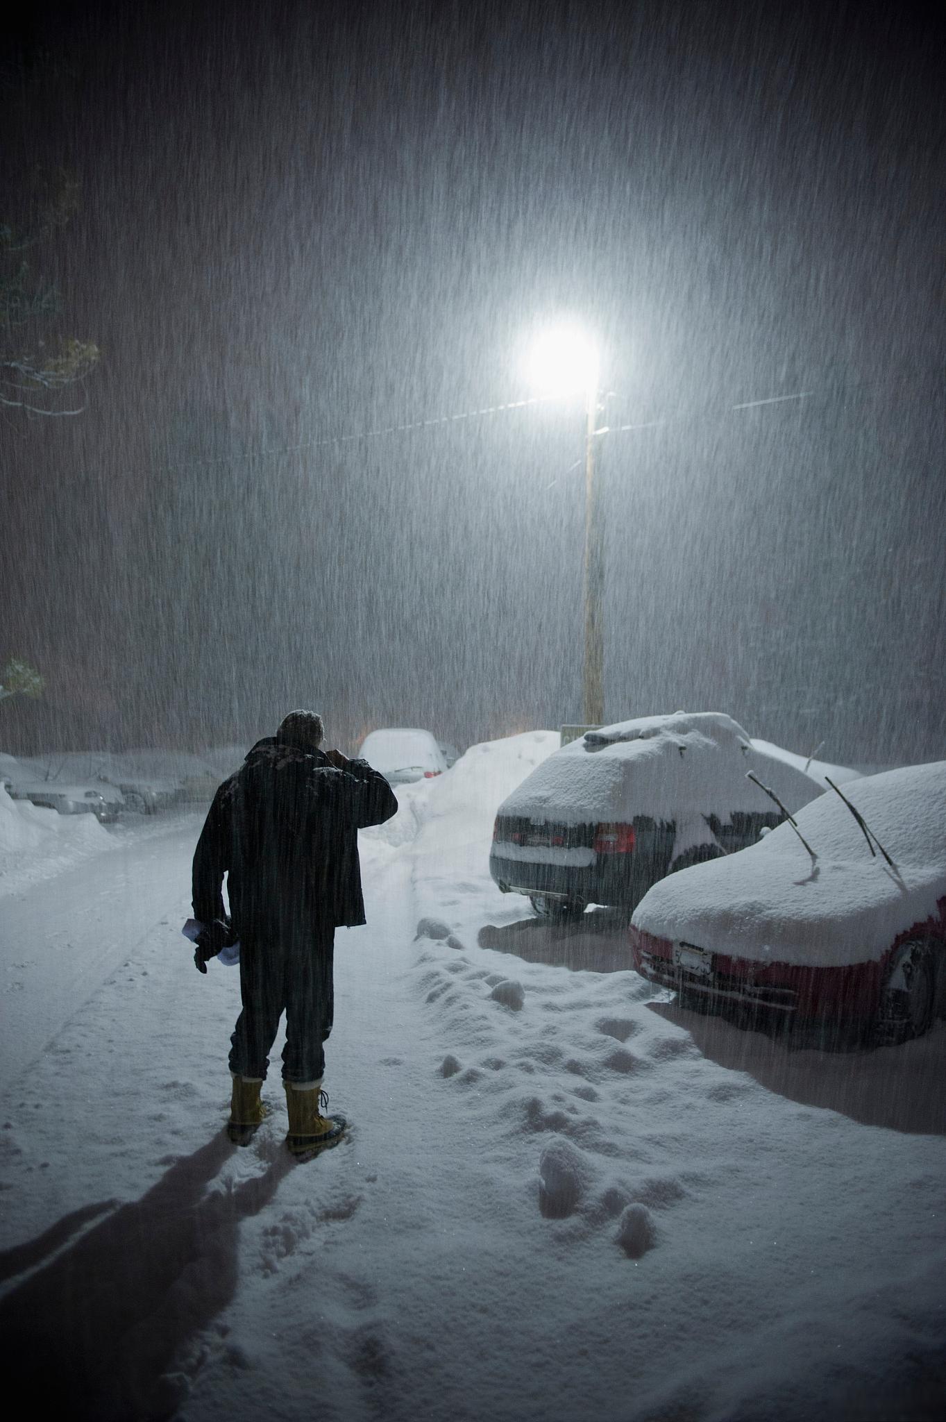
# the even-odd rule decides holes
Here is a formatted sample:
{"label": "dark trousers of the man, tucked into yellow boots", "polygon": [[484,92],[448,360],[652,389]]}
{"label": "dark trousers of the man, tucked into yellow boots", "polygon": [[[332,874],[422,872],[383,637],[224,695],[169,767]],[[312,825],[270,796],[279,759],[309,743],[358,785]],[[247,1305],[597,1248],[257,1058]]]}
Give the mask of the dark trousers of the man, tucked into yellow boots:
{"label": "dark trousers of the man, tucked into yellow boots", "polygon": [[335,929],[320,927],[311,937],[240,936],[240,997],[243,1011],[230,1038],[230,1071],[236,1076],[266,1078],[270,1048],[286,1012],[283,1081],[318,1081],[325,1071],[322,1042],[332,1030],[335,1010],[332,950]]}

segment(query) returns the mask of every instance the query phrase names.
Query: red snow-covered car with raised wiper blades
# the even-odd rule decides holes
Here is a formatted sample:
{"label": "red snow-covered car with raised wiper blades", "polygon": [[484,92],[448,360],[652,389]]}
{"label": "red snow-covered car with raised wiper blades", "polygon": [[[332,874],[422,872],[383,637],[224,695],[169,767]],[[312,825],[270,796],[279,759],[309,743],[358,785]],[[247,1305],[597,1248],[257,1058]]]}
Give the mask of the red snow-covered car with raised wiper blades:
{"label": "red snow-covered car with raised wiper blades", "polygon": [[946,1010],[946,761],[852,781],[665,879],[629,931],[636,970],[685,1000],[920,1035]]}

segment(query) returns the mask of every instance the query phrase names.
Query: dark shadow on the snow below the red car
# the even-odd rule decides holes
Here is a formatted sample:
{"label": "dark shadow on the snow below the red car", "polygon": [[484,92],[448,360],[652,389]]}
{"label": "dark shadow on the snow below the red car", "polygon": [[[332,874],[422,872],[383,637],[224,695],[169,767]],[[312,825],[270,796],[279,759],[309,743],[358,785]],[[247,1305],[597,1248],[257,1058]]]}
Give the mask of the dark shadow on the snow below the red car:
{"label": "dark shadow on the snow below the red car", "polygon": [[946,1135],[946,1024],[925,1037],[876,1051],[807,1048],[800,1035],[737,1027],[678,1003],[648,1003],[683,1027],[710,1061],[744,1071],[760,1086],[805,1106],[824,1106],[866,1126]]}

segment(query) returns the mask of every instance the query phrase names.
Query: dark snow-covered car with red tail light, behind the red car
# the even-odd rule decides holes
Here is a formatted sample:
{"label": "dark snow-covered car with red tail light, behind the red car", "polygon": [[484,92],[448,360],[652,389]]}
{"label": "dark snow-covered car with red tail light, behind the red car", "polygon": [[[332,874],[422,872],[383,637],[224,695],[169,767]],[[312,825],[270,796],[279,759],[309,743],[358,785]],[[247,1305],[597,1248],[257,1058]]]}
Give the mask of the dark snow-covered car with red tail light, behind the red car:
{"label": "dark snow-covered car with red tail light, behind the red car", "polygon": [[490,873],[550,917],[634,907],[665,875],[754,843],[824,789],[717,711],[621,721],[564,745],[503,801]]}

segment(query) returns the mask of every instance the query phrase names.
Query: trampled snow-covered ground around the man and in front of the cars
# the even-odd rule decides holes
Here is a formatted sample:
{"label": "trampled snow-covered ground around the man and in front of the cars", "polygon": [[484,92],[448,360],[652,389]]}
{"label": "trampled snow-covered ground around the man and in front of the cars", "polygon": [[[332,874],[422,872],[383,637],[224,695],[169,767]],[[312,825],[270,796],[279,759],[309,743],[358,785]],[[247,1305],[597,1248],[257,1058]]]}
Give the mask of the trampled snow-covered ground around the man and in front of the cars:
{"label": "trampled snow-covered ground around the man and in front of the cars", "polygon": [[946,1027],[790,1051],[655,993],[616,914],[531,919],[490,833],[555,745],[473,747],[362,836],[325,1079],[351,1129],[305,1165],[280,1044],[271,1119],[243,1150],[222,1132],[239,983],[180,937],[199,815],[0,903],[26,974],[11,1395],[189,1422],[942,1415]]}

